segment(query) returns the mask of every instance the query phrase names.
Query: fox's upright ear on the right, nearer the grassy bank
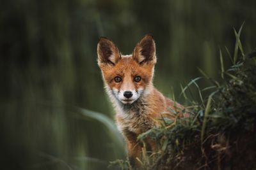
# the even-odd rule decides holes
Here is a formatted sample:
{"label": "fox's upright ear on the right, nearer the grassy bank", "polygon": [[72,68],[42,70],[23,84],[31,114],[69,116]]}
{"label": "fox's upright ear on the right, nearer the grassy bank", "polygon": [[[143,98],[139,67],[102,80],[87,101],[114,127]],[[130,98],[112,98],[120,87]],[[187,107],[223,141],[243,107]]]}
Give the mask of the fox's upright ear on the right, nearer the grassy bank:
{"label": "fox's upright ear on the right, nearer the grassy bank", "polygon": [[156,64],[156,43],[152,36],[144,36],[135,46],[132,57],[139,64]]}

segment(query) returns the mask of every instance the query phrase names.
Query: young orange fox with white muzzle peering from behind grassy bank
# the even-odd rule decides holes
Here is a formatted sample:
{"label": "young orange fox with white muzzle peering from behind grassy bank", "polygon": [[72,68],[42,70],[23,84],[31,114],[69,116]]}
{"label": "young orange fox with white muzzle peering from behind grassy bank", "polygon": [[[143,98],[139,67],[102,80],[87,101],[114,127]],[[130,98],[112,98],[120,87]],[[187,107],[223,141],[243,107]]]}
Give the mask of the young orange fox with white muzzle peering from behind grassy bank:
{"label": "young orange fox with white muzzle peering from behind grassy bank", "polygon": [[[151,35],[144,36],[130,55],[122,55],[113,41],[100,37],[97,57],[104,87],[116,113],[117,128],[127,143],[129,162],[139,166],[143,143],[138,136],[157,126],[156,120],[170,113],[170,109],[183,114],[185,108],[153,85],[157,57]],[[156,150],[153,139],[146,138],[145,143],[149,150]]]}

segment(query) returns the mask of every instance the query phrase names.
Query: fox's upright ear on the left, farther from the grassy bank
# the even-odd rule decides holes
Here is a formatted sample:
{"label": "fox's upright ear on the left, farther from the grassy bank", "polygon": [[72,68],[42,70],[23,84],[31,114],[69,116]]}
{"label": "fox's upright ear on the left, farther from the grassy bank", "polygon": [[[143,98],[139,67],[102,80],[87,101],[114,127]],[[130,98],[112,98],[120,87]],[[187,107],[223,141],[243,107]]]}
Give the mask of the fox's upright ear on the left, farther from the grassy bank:
{"label": "fox's upright ear on the left, farther from the grassy bank", "polygon": [[101,37],[97,45],[98,65],[109,64],[115,66],[121,59],[118,48],[108,38]]}

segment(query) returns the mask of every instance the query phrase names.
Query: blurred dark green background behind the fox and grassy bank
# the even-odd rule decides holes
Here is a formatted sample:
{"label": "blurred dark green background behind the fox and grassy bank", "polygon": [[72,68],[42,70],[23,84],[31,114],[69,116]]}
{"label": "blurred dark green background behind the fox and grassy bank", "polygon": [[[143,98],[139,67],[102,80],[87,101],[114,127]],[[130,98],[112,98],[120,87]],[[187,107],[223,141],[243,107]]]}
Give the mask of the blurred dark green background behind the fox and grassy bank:
{"label": "blurred dark green background behind the fox and grassy bank", "polygon": [[[218,79],[220,49],[225,67],[230,64],[225,46],[232,55],[233,27],[238,31],[245,21],[244,52],[256,47],[255,6],[238,0],[1,1],[1,169],[106,169],[109,160],[125,158],[96,62],[100,36],[127,54],[152,34],[154,83],[183,103],[180,84],[200,76],[197,67]],[[192,93],[198,99],[196,89]]]}

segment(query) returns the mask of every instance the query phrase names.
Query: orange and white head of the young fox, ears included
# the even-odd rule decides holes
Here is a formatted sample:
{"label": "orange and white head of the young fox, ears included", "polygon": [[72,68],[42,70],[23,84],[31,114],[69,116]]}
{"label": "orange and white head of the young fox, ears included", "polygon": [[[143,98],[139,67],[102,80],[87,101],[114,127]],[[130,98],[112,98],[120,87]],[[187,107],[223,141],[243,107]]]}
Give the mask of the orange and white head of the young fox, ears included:
{"label": "orange and white head of the young fox, ears included", "polygon": [[109,96],[122,104],[132,104],[150,94],[156,64],[156,44],[152,36],[143,37],[132,55],[122,55],[112,41],[102,37],[97,54]]}

